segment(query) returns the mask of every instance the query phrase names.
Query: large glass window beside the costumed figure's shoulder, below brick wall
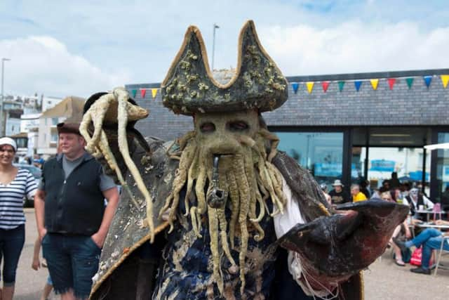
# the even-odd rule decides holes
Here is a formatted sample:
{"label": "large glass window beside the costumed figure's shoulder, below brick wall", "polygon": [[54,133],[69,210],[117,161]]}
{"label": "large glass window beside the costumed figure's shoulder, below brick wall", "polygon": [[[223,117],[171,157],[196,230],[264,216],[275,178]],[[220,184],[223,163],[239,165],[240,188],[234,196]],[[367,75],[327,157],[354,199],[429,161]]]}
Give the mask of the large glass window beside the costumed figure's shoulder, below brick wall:
{"label": "large glass window beside the costumed figure's shoulder, below brick wall", "polygon": [[309,169],[319,183],[330,184],[342,178],[342,132],[276,132],[279,150],[287,152],[302,167]]}

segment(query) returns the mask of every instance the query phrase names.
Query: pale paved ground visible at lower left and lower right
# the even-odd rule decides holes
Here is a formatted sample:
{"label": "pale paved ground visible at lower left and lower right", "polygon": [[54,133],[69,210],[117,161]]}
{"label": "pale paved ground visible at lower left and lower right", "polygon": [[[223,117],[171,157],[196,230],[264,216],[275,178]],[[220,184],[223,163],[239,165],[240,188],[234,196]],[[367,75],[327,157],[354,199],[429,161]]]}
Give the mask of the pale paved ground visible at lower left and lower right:
{"label": "pale paved ground visible at lower left and lower right", "polygon": [[[16,293],[16,300],[35,300],[46,282],[47,270],[41,268],[32,270],[33,245],[36,240],[36,222],[34,209],[25,209],[27,216],[25,247],[20,257]],[[448,261],[449,258],[445,259]],[[448,299],[449,270],[438,270],[438,275],[419,275],[409,271],[410,266],[399,267],[391,259],[389,250],[377,259],[369,270],[364,272],[365,300],[395,299]],[[58,299],[52,297],[52,299]]]}

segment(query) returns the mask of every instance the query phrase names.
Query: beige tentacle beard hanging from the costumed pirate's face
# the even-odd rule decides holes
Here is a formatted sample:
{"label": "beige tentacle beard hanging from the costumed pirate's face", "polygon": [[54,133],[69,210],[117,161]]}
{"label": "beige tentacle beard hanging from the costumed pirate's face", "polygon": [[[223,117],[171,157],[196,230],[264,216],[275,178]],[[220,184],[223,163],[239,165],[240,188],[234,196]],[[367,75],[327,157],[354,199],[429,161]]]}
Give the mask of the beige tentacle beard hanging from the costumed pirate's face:
{"label": "beige tentacle beard hanging from the costumed pirate's face", "polygon": [[[180,150],[177,153],[169,153],[170,157],[180,159],[179,169],[175,174],[172,192],[166,199],[161,209],[160,217],[168,211],[170,231],[173,230],[173,221],[179,204],[180,190],[187,184],[185,195],[185,215],[192,219],[192,226],[197,237],[201,237],[201,216],[208,214],[208,226],[210,232],[210,250],[213,256],[213,280],[217,284],[220,293],[223,292],[222,270],[220,260],[222,254],[227,256],[232,268],[239,270],[241,279],[241,294],[245,288],[245,261],[248,247],[248,239],[255,241],[264,238],[259,222],[264,214],[270,216],[282,213],[286,203],[282,192],[282,177],[271,160],[276,155],[276,146],[279,139],[269,131],[261,129],[255,139],[249,136],[241,136],[239,149],[235,149],[235,155],[220,161],[219,178],[220,188],[229,193],[231,219],[225,218],[225,208],[214,209],[208,207],[205,188],[209,190],[212,182],[213,154],[202,151],[195,139],[194,131],[187,133],[177,141]],[[265,150],[265,144],[272,147],[269,153]],[[227,164],[225,167],[221,167]],[[206,187],[206,184],[208,185]],[[190,207],[189,197],[195,193],[197,206]],[[271,198],[274,206],[269,211],[267,199]],[[255,233],[250,236],[248,225],[255,228]],[[234,247],[236,228],[239,228],[241,243],[239,249]],[[239,251],[239,266],[236,266],[231,256],[230,248]],[[219,247],[219,242],[221,243]],[[221,253],[220,253],[221,252]]]}

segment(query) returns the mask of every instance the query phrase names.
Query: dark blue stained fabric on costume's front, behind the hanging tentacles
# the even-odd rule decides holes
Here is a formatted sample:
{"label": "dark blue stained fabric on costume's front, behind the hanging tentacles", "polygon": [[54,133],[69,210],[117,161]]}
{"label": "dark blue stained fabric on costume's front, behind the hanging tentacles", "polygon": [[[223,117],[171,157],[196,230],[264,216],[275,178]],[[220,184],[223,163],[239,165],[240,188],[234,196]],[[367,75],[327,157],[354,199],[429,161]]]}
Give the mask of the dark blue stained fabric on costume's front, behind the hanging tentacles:
{"label": "dark blue stained fabric on costume's front, behind the hanging tentacles", "polygon": [[[153,299],[268,299],[275,275],[274,263],[278,255],[278,249],[274,244],[276,234],[272,217],[267,214],[260,222],[265,233],[264,239],[260,242],[253,239],[255,231],[250,230],[248,226],[250,238],[246,254],[244,296],[240,294],[239,271],[230,273],[231,264],[227,257],[222,255],[222,278],[225,284],[224,295],[220,296],[212,278],[213,262],[207,214],[201,220],[202,237],[198,239],[192,230],[190,217],[182,216],[185,207],[183,197],[180,198],[177,221],[173,232],[167,237],[168,243],[163,250],[163,263],[159,268]],[[227,220],[230,220],[229,208],[226,209],[226,215]],[[235,249],[231,249],[231,254],[237,264],[239,264],[239,251],[236,249],[240,248],[239,237],[239,230],[236,229]]]}

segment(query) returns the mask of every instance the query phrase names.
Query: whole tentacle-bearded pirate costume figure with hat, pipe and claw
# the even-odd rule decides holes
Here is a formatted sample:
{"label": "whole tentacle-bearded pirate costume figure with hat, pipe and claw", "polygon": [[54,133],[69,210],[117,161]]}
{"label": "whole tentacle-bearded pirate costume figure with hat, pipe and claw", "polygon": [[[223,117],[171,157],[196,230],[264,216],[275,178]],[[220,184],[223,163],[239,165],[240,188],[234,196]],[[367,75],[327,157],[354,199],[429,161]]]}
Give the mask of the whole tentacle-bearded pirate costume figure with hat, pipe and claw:
{"label": "whole tentacle-bearded pirate costume figure with hat, pipe and claw", "polygon": [[194,121],[173,143],[134,129],[148,114],[124,89],[86,102],[87,148],[123,186],[91,299],[363,299],[361,270],[408,207],[335,211],[307,170],[276,150],[261,113],[287,100],[288,83],[252,21],[237,69],[222,75],[189,27],[161,84],[163,105]]}

